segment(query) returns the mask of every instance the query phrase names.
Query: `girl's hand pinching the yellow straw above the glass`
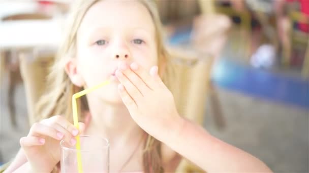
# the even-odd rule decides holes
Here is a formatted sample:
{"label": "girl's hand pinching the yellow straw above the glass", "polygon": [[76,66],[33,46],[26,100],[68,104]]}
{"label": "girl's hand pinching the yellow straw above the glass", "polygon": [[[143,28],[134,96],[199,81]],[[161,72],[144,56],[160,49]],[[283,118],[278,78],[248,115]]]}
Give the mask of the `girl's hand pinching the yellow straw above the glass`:
{"label": "girl's hand pinching the yellow straw above the glass", "polygon": [[52,116],[34,123],[28,136],[20,139],[27,160],[33,172],[50,172],[60,160],[59,141],[64,139],[75,145],[75,136],[84,131],[80,122],[80,131],[63,116]]}

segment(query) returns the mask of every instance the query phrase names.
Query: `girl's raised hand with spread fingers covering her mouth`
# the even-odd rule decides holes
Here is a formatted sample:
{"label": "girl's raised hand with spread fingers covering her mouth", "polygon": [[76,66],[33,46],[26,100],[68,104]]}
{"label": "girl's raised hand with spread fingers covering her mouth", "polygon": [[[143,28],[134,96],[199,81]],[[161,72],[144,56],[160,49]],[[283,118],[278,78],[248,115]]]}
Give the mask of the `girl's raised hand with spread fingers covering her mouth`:
{"label": "girl's raised hand with spread fingers covering her mouth", "polygon": [[120,81],[118,90],[123,103],[145,132],[162,141],[165,139],[162,133],[169,136],[177,130],[171,125],[180,117],[172,93],[158,75],[157,66],[153,66],[149,74],[137,63],[130,67],[121,63],[116,76]]}

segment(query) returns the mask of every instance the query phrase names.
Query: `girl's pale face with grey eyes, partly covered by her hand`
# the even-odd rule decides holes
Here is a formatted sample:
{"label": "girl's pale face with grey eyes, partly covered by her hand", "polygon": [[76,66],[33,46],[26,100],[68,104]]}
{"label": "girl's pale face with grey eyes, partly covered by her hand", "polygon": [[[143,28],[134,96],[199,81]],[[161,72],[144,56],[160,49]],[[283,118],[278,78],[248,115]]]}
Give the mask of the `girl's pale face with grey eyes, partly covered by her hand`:
{"label": "girl's pale face with grey eyes, partly covered by her hand", "polygon": [[119,62],[137,62],[146,69],[157,65],[156,31],[146,7],[137,1],[93,5],[77,32],[76,56],[66,66],[72,82],[90,87],[110,80],[94,94],[106,102],[122,103],[115,77]]}

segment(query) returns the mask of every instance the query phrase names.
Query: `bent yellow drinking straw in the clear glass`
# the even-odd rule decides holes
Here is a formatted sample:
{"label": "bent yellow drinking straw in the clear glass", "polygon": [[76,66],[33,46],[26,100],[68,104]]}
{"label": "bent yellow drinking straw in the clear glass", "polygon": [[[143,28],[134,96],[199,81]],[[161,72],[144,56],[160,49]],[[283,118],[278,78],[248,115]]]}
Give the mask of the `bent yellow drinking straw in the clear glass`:
{"label": "bent yellow drinking straw in the clear glass", "polygon": [[[74,122],[74,126],[79,129],[79,125],[78,125],[78,115],[77,115],[77,103],[76,103],[76,99],[78,99],[79,97],[88,94],[92,91],[95,91],[99,88],[101,88],[102,86],[105,86],[109,84],[109,81],[104,81],[96,86],[93,86],[91,88],[85,89],[81,92],[75,93],[72,96],[72,109],[73,109],[73,122]],[[83,172],[83,168],[82,168],[82,163],[81,163],[81,153],[80,153],[80,140],[79,140],[79,135],[77,135],[76,137],[76,150],[77,150],[77,167],[78,167],[78,172],[82,173]]]}

